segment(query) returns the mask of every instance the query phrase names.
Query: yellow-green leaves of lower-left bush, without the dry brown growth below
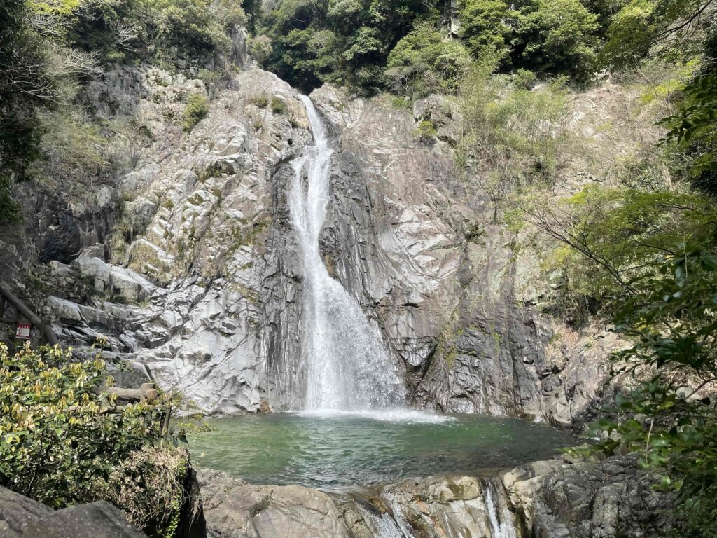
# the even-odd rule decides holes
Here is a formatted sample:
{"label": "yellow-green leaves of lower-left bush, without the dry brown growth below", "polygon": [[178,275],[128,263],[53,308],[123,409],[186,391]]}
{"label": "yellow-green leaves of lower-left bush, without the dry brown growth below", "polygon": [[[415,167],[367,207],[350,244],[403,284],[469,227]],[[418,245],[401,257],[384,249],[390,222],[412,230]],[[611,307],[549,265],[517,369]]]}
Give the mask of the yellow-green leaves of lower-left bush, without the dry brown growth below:
{"label": "yellow-green leaves of lower-left bush, without the dry brown growth below", "polygon": [[92,498],[93,483],[108,478],[128,453],[161,438],[162,405],[131,405],[106,412],[100,394],[108,377],[97,358],[77,362],[59,346],[15,356],[0,344],[0,483],[60,507]]}

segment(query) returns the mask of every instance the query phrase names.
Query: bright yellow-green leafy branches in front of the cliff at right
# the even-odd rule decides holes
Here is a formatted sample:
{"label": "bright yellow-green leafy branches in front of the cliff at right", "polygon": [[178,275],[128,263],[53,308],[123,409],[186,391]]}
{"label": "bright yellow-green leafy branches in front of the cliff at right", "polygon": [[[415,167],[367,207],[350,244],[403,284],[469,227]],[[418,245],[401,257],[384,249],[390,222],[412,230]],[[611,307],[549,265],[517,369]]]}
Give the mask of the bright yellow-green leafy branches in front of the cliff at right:
{"label": "bright yellow-green leafy branches in front of the cliff at right", "polygon": [[686,238],[717,232],[711,203],[694,194],[591,186],[542,205],[528,210],[529,218],[564,244],[548,265],[564,270],[561,313],[573,317],[586,304],[614,311]]}

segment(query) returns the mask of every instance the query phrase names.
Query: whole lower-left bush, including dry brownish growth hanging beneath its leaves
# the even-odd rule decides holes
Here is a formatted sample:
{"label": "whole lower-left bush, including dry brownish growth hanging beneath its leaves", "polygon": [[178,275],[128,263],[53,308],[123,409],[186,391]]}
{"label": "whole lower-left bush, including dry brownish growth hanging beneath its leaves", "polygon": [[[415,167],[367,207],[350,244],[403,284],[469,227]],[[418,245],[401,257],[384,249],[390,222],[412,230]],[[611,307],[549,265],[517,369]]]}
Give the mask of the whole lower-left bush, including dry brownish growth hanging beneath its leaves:
{"label": "whole lower-left bush, including dry brownish growth hanging beneath its leaves", "polygon": [[78,361],[71,349],[26,344],[12,356],[0,344],[0,485],[53,508],[113,501],[151,536],[166,536],[189,468],[161,431],[169,397],[113,412],[105,384],[113,379],[99,355]]}

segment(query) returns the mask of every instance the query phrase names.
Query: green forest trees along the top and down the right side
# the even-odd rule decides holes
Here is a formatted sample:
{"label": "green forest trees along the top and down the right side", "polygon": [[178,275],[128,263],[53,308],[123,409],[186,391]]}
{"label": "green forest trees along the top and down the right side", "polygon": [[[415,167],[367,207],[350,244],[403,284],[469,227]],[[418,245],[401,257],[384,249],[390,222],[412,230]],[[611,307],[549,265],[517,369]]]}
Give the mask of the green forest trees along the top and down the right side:
{"label": "green forest trees along the top and down the right side", "polygon": [[[578,328],[612,321],[632,343],[616,369],[642,368],[639,390],[606,412],[599,450],[640,451],[663,473],[661,487],[682,492],[676,535],[713,537],[703,522],[717,513],[715,402],[678,387],[717,380],[716,4],[451,4],[4,0],[0,225],[22,220],[11,195],[17,182],[64,175],[79,183],[83,174],[131,169],[110,146],[141,146],[132,137],[142,130],[133,118],[94,117],[82,95],[88,81],[114,67],[161,65],[215,83],[231,75],[226,59],[242,27],[255,62],[307,93],[331,83],[362,97],[386,94],[399,109],[439,94],[460,110],[451,151],[466,199],[489,199],[493,224],[533,225],[554,241],[546,271],[565,285],[549,313]],[[637,88],[654,140],[611,161],[609,173],[596,174],[604,181],[556,197],[576,145],[565,128],[569,99],[606,81]],[[185,104],[179,121],[191,131],[209,105],[199,94]],[[437,126],[417,122],[430,147]],[[35,364],[47,353],[13,360]]]}

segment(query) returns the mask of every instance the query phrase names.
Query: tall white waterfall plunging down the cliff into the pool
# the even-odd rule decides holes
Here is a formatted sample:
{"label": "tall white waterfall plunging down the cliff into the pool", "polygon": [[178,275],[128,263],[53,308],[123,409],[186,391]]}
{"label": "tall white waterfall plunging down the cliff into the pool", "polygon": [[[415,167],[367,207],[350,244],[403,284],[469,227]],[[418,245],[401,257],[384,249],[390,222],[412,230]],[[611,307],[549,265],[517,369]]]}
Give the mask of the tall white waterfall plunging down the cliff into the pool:
{"label": "tall white waterfall plunging down the cliff into the pool", "polygon": [[341,283],[331,278],[319,247],[329,202],[331,155],[326,128],[302,96],[313,146],[293,161],[291,220],[304,265],[303,364],[308,410],[372,410],[401,407],[397,369],[372,325]]}

